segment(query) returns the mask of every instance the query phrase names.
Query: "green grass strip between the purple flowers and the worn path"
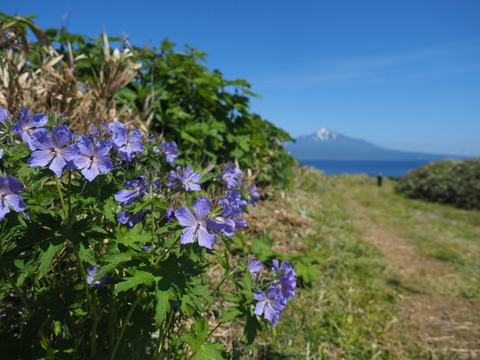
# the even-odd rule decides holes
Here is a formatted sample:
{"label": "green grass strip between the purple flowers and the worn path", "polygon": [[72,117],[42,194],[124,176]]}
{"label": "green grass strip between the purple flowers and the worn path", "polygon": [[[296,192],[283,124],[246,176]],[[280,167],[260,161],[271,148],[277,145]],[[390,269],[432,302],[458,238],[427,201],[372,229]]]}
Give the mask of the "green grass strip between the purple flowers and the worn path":
{"label": "green grass strip between the purple flowers and the worn path", "polygon": [[[301,198],[304,212],[308,208],[306,213],[314,220],[309,234],[300,240],[300,260],[318,258],[318,264],[312,265],[318,277],[310,287],[300,288],[288,304],[274,331],[272,346],[262,356],[393,359],[385,338],[386,329],[396,321],[391,306],[395,294],[380,275],[384,271],[381,254],[361,240],[350,223],[341,192],[330,190],[335,183],[317,173],[307,175],[298,193],[291,196]],[[302,264],[297,261],[295,265],[298,272]]]}

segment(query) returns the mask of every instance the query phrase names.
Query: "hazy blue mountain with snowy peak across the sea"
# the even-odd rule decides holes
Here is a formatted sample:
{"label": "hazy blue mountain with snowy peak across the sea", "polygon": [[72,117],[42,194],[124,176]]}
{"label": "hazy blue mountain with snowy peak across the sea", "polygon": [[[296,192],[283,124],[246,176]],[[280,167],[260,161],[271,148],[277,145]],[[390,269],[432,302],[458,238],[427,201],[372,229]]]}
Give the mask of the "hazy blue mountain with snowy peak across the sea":
{"label": "hazy blue mountain with snowy peak across the sea", "polygon": [[287,143],[285,149],[297,159],[443,159],[447,155],[397,151],[354,139],[326,128],[310,135],[302,135],[295,143]]}

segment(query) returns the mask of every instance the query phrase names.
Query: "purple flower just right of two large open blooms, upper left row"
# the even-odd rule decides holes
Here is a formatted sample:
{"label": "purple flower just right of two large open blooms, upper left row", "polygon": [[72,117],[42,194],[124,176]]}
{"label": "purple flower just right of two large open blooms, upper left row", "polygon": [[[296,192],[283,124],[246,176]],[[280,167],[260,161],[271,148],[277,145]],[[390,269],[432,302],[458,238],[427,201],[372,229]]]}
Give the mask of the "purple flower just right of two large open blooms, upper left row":
{"label": "purple flower just right of two large open blooms, upper left row", "polygon": [[140,131],[132,129],[128,133],[127,128],[119,121],[109,124],[108,130],[112,137],[113,146],[125,160],[132,161],[134,152],[144,151],[142,133]]}

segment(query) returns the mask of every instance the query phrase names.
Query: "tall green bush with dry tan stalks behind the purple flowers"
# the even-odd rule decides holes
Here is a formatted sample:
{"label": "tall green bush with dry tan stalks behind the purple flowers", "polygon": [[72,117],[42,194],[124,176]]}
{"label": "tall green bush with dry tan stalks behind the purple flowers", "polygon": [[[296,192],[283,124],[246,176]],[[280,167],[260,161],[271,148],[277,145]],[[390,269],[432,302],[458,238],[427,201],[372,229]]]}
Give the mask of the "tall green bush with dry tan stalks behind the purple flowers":
{"label": "tall green bush with dry tan stalks behind the purple flowers", "polygon": [[[251,169],[260,186],[293,181],[294,159],[283,148],[290,135],[252,113],[250,97],[258,95],[251,85],[210,71],[204,52],[175,51],[168,40],[160,48],[138,48],[106,34],[42,32],[31,19],[1,13],[0,27],[9,40],[0,42],[9,50],[0,71],[11,79],[0,83],[0,106],[67,113],[70,126],[83,132],[92,121],[123,121],[144,133],[168,134],[203,166],[235,162]],[[36,42],[26,41],[27,29]],[[111,42],[120,49],[112,52]]]}

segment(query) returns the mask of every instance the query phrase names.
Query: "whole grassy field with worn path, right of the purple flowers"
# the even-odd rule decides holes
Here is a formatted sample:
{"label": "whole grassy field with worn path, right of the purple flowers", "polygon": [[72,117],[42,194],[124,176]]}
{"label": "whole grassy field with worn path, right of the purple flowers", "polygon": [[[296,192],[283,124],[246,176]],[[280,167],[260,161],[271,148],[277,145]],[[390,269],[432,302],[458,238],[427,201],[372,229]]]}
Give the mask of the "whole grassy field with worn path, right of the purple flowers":
{"label": "whole grassy field with worn path, right of the purple flowers", "polygon": [[272,241],[300,275],[256,358],[480,358],[480,213],[393,186],[302,168],[251,213],[251,250]]}

